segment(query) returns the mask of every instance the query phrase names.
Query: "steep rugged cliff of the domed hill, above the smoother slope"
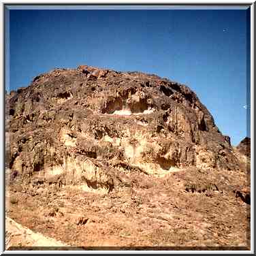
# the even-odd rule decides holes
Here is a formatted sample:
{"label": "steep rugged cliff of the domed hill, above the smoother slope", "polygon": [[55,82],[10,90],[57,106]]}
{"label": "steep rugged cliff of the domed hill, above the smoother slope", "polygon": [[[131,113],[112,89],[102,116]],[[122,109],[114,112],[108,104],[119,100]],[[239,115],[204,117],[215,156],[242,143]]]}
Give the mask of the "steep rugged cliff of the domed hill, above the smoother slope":
{"label": "steep rugged cliff of the domed hill, above the smoother slope", "polygon": [[88,170],[121,165],[155,175],[238,168],[229,139],[195,93],[154,75],[56,69],[9,101],[10,169],[17,175],[65,173],[88,184]]}

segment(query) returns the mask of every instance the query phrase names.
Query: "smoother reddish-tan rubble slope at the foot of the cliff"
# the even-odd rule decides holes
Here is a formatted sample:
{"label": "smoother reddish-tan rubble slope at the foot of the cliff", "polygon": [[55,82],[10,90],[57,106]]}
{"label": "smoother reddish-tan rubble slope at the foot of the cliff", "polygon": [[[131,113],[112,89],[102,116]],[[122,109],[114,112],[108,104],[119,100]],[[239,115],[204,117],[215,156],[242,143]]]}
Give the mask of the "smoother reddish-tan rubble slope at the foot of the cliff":
{"label": "smoother reddish-tan rubble slope at the foot of the cliff", "polygon": [[244,174],[215,171],[211,186],[209,175],[133,173],[138,184],[105,194],[76,187],[14,189],[7,194],[7,216],[69,246],[249,249],[250,205],[234,193]]}

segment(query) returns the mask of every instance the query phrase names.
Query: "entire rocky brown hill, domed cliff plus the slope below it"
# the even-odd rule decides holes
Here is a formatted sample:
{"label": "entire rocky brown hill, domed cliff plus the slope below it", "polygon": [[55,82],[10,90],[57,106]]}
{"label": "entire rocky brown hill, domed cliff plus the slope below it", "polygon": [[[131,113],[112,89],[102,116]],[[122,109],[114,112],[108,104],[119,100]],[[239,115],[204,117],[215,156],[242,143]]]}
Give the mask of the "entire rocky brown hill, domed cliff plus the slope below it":
{"label": "entire rocky brown hill, domed cliff plus the slope below it", "polygon": [[[212,207],[213,215],[214,212],[219,214],[221,208],[231,210],[239,204],[233,221],[236,223],[236,218],[242,218],[243,228],[240,223],[230,226],[229,231],[234,228],[233,231],[240,232],[240,235],[236,234],[239,242],[235,245],[248,245],[248,202],[238,201],[234,195],[235,191],[248,187],[248,165],[243,165],[241,161],[244,151],[231,146],[229,137],[219,131],[210,112],[189,87],[155,75],[122,73],[82,65],[77,69],[54,69],[37,76],[28,87],[7,95],[5,110],[6,116],[9,116],[6,121],[6,177],[11,193],[9,214],[14,219],[24,222],[22,216],[25,215],[22,214],[37,214],[37,221],[43,221],[46,216],[55,218],[55,226],[61,234],[65,234],[62,230],[65,221],[59,223],[60,218],[65,216],[70,223],[71,212],[75,211],[76,217],[83,216],[86,208],[89,215],[93,214],[91,219],[94,222],[75,220],[76,228],[73,229],[79,233],[80,226],[87,225],[91,230],[89,233],[93,234],[92,240],[67,241],[67,237],[56,229],[51,236],[78,246],[102,246],[102,241],[95,240],[99,233],[89,227],[95,223],[102,224],[104,219],[102,227],[108,234],[108,240],[112,241],[107,244],[145,246],[149,240],[146,236],[140,242],[136,240],[140,233],[135,231],[136,228],[130,234],[133,242],[127,243],[119,234],[119,228],[124,223],[129,227],[136,214],[138,217],[142,214],[140,218],[144,221],[152,218],[147,217],[146,210],[152,206],[150,200],[158,204],[152,206],[153,215],[165,212],[161,220],[169,223],[165,227],[169,233],[171,219],[176,218],[174,215],[178,216],[177,208],[184,210],[185,219],[187,214],[195,214],[198,218],[195,223],[205,229],[207,225],[200,220],[206,212],[200,215],[196,214],[198,209],[195,210],[200,200],[205,201],[202,208]],[[246,189],[247,194],[248,191]],[[191,209],[184,204],[188,204],[189,198],[195,194],[202,198],[194,198],[193,212],[188,213],[187,210]],[[13,199],[12,204],[12,198],[17,195],[21,207],[31,205],[33,210],[23,209],[22,214],[14,213],[12,208],[18,207],[18,202]],[[28,195],[33,196],[33,204]],[[65,198],[63,204],[71,209],[63,206],[60,215],[56,209],[61,207],[61,202],[57,202],[55,208],[48,209],[49,202],[54,202],[55,196]],[[81,197],[87,201],[78,202]],[[209,197],[213,198],[210,202],[212,206],[209,206]],[[224,200],[222,206],[214,208],[214,200],[218,202],[220,197]],[[190,199],[193,205],[193,199]],[[38,209],[34,209],[37,204],[45,212],[42,220],[38,217]],[[118,218],[123,217],[123,224],[121,218],[119,224],[108,219],[106,225],[106,214],[102,217],[95,207],[102,213],[111,213],[110,219],[115,214]],[[159,227],[159,223],[154,224],[154,221],[150,225],[154,231],[162,230],[161,225]],[[228,218],[225,221],[229,223]],[[188,232],[199,230],[195,228],[195,223],[186,224]],[[25,224],[28,227],[32,225],[26,221]],[[37,229],[40,225],[33,225],[33,228]],[[143,229],[148,226],[136,223],[135,227]],[[105,233],[101,234],[103,240],[106,239]],[[109,239],[112,235],[113,238]],[[190,238],[189,242],[182,240],[183,235],[180,235],[180,240],[172,242],[170,236],[165,242],[163,238],[158,238],[157,244],[202,246],[205,241],[201,235],[194,234],[197,239]],[[208,246],[221,244],[219,240],[214,240],[213,235],[206,240]],[[227,241],[224,244],[229,244]],[[154,242],[149,242],[149,246],[153,245]]]}

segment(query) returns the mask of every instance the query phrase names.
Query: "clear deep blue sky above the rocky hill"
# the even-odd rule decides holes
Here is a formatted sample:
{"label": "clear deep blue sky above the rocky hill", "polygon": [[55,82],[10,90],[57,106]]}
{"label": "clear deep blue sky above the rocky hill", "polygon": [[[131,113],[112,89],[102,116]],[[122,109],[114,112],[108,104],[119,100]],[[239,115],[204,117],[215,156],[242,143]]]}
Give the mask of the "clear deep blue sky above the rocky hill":
{"label": "clear deep blue sky above the rocky hill", "polygon": [[33,77],[54,68],[82,64],[157,74],[195,91],[236,145],[249,135],[246,12],[10,10],[6,89],[28,86]]}

